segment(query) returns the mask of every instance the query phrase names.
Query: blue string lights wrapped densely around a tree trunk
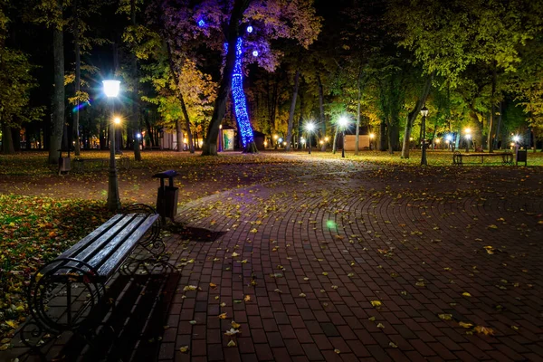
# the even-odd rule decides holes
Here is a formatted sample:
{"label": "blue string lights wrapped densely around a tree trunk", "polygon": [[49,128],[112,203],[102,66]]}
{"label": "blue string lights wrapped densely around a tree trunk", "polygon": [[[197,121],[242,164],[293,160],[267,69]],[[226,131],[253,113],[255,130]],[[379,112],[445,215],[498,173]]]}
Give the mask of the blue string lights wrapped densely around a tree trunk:
{"label": "blue string lights wrapped densely around a tree trunk", "polygon": [[243,148],[246,148],[254,141],[254,138],[252,135],[251,122],[249,121],[249,114],[247,113],[247,100],[245,100],[245,93],[243,92],[242,58],[243,39],[238,38],[237,42],[235,43],[235,63],[232,74],[232,98],[235,119],[237,119],[238,128],[242,134]]}

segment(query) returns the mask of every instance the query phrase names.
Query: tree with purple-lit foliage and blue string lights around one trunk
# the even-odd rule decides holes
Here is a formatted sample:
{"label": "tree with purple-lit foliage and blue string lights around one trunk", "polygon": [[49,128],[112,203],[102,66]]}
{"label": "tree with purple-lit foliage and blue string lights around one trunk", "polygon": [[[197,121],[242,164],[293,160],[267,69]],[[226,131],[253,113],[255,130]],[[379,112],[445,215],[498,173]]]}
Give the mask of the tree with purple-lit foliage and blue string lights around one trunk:
{"label": "tree with purple-lit foliage and blue string lights around one trunk", "polygon": [[282,54],[271,48],[271,40],[290,38],[308,48],[320,31],[321,19],[315,14],[313,0],[208,0],[196,5],[185,0],[166,0],[159,6],[165,26],[176,28],[179,43],[196,41],[224,56],[202,155],[217,155],[219,126],[230,93],[243,151],[256,152],[243,91],[246,65],[255,62],[273,71]]}

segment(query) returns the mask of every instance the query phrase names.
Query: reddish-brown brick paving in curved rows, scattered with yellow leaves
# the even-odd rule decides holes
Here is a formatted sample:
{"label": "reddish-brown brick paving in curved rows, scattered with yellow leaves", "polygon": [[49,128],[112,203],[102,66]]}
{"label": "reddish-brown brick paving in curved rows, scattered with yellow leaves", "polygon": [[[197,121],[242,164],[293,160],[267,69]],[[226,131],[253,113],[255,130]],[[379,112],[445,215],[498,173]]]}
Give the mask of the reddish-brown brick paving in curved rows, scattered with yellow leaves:
{"label": "reddish-brown brick paving in curved rows, scattered with yellow leaves", "polygon": [[263,170],[179,211],[179,274],[123,291],[123,360],[543,359],[541,171]]}

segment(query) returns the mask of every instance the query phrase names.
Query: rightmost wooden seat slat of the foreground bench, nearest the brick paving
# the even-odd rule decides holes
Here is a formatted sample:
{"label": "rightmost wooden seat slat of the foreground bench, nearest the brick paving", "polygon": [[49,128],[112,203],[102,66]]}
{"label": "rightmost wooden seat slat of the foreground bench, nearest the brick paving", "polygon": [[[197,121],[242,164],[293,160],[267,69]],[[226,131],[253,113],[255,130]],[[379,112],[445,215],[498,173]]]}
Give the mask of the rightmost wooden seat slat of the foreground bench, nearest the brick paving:
{"label": "rightmost wooden seat slat of the foreground bench, nearest the brick paving", "polygon": [[123,262],[129,253],[136,247],[139,239],[148,232],[151,226],[157,221],[158,215],[153,214],[149,215],[147,218],[142,218],[142,222],[138,224],[138,228],[129,234],[129,238],[120,243],[119,247],[114,250],[113,253],[109,254],[106,258],[103,257],[108,250],[104,250],[96,255],[100,260],[104,260],[100,268],[98,269],[99,275],[110,275],[112,271],[116,271],[119,267],[119,264]]}

